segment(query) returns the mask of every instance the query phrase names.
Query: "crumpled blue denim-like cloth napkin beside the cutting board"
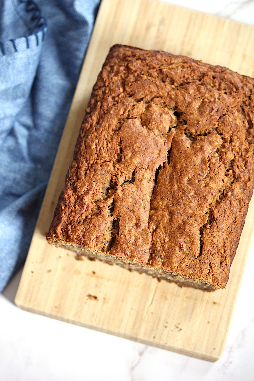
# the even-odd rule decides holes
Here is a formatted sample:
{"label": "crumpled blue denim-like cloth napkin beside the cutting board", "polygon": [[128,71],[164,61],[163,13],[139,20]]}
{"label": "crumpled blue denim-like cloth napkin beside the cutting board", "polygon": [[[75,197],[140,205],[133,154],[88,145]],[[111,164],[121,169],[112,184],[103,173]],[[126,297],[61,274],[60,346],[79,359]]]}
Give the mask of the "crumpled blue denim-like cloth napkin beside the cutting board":
{"label": "crumpled blue denim-like cloth napkin beside the cutting board", "polygon": [[0,0],[0,291],[26,258],[99,2]]}

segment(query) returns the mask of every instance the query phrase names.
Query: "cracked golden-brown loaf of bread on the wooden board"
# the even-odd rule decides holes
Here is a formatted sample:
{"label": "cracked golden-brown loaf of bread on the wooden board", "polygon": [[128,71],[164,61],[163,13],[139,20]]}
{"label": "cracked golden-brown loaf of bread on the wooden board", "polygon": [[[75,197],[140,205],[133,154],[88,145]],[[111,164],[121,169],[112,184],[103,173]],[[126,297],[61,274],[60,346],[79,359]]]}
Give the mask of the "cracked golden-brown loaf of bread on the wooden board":
{"label": "cracked golden-brown loaf of bread on the wooden board", "polygon": [[254,186],[254,79],[111,48],[47,240],[178,285],[224,288]]}

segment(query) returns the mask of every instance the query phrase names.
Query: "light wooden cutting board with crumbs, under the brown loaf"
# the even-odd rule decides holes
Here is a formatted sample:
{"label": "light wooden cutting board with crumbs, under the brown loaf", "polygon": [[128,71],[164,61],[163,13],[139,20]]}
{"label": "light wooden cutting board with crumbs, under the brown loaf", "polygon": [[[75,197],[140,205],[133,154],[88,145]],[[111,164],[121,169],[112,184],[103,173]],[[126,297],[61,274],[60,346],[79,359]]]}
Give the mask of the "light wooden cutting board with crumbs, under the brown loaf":
{"label": "light wooden cutting board with crumbs, under the brown loaf", "polygon": [[16,295],[28,311],[201,359],[222,355],[254,232],[249,207],[225,290],[207,293],[51,247],[45,239],[92,86],[115,43],[254,77],[254,27],[154,0],[103,0]]}

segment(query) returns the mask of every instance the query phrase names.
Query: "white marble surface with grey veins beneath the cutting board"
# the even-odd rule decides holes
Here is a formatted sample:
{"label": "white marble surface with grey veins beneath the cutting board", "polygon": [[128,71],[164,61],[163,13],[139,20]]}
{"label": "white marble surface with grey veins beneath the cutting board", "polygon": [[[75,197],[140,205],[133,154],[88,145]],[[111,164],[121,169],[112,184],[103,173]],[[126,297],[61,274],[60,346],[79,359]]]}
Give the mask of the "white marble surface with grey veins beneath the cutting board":
{"label": "white marble surface with grey veins beneath the cutting board", "polygon": [[[253,0],[168,2],[254,24]],[[253,267],[254,244],[225,351],[215,363],[22,311],[14,305],[19,272],[0,295],[0,380],[253,381]]]}

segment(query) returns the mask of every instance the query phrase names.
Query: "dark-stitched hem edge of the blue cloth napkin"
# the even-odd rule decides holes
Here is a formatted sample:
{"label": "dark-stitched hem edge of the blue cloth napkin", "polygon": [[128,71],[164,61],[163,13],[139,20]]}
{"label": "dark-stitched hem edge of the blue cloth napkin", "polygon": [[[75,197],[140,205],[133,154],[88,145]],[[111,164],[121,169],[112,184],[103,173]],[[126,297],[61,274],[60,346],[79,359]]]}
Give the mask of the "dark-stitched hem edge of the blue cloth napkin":
{"label": "dark-stitched hem edge of the blue cloth napkin", "polygon": [[[37,4],[32,0],[18,0],[18,2],[23,4],[24,11],[29,14],[29,21],[31,24],[24,19],[15,2],[12,0],[15,11],[19,18],[23,21],[27,30],[31,32],[11,40],[0,41],[0,54],[2,54],[2,56],[10,53],[10,51],[13,53],[23,51],[24,49],[29,49],[34,45],[39,46],[40,42],[44,40],[45,32],[47,31],[47,22],[42,16],[40,8]],[[33,27],[31,27],[31,25]]]}

